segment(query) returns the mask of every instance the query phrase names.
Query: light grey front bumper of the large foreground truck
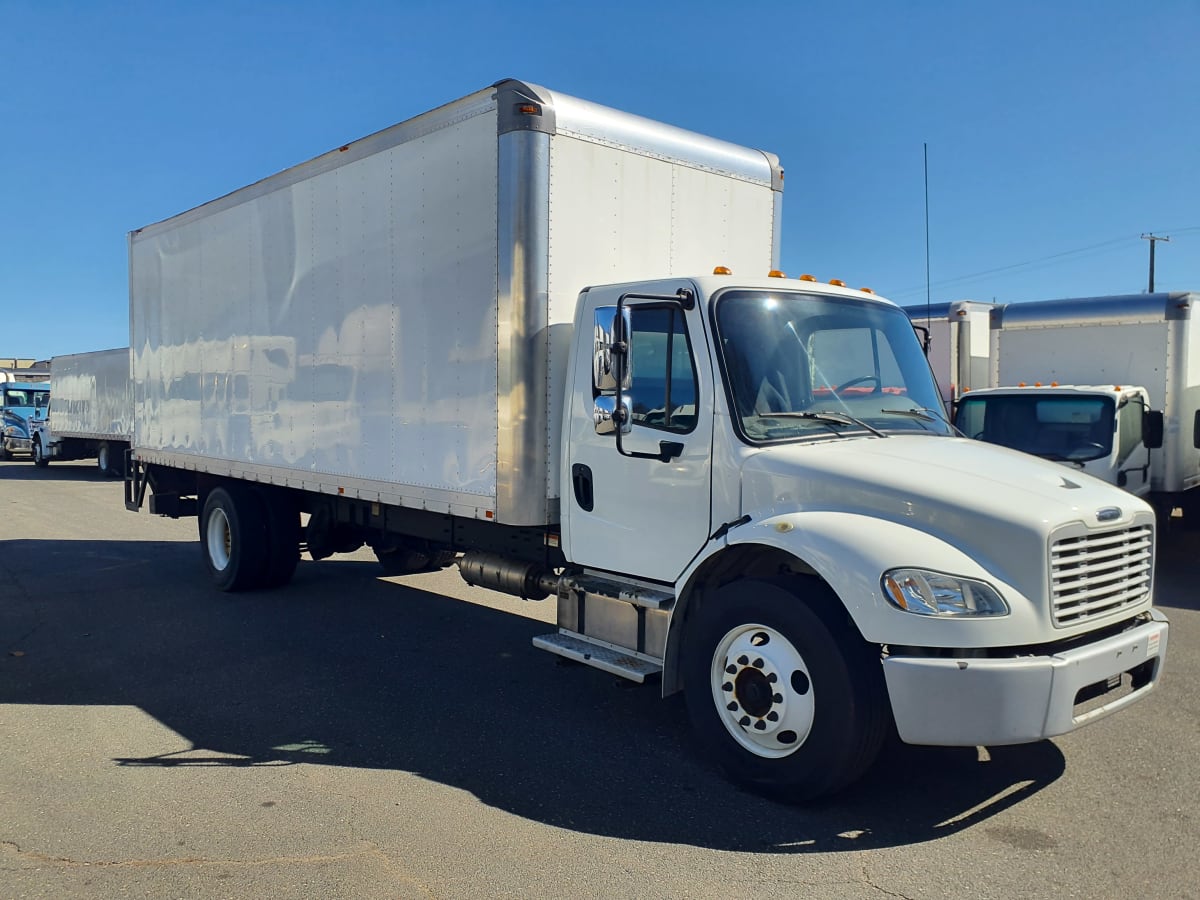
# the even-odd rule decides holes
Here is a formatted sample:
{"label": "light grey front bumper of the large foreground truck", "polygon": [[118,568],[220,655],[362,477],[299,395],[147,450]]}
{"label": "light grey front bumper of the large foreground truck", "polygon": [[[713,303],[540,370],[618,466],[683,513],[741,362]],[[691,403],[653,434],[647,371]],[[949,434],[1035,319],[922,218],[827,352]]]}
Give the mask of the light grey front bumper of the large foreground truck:
{"label": "light grey front bumper of the large foreground truck", "polygon": [[[1166,659],[1166,617],[1096,643],[1043,656],[889,656],[883,674],[907,744],[1026,744],[1066,734],[1145,697]],[[1116,682],[1120,680],[1121,690]],[[1111,690],[1100,704],[1086,696]],[[1132,690],[1130,690],[1132,688]]]}

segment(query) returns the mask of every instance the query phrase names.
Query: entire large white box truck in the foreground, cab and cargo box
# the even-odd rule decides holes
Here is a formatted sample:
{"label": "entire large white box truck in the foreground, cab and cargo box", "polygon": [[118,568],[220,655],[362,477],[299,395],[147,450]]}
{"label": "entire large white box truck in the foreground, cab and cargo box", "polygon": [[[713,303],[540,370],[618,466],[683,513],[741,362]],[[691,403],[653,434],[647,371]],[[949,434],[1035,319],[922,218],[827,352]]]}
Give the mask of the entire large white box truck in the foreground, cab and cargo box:
{"label": "entire large white box truck in the foreground, cab and cargo box", "polygon": [[1145,697],[1151,509],[954,437],[892,302],[768,277],[781,188],[770,154],[508,80],[136,230],[126,505],[198,515],[224,590],[301,541],[461,553],[778,797],[893,722],[1013,744]]}

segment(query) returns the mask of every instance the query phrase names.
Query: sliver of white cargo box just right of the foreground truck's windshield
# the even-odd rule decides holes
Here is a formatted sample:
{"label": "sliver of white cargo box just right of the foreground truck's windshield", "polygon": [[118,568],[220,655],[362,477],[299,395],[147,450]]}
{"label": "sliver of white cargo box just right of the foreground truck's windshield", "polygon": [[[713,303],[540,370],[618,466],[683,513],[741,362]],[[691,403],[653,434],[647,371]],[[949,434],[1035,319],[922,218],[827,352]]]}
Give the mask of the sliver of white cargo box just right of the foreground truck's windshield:
{"label": "sliver of white cargo box just right of the foreground truck's windshield", "polygon": [[947,407],[958,403],[965,392],[988,386],[994,306],[954,300],[904,307],[925,340],[925,355]]}

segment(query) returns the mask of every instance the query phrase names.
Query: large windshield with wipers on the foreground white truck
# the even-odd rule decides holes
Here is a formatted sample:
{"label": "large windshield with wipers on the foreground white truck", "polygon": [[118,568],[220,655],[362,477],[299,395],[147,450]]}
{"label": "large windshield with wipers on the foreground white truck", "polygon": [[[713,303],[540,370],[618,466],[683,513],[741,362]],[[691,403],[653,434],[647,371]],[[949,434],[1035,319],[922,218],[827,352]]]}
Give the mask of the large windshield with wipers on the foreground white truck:
{"label": "large windshield with wipers on the foreground white truck", "polygon": [[950,433],[902,310],[845,296],[731,290],[718,299],[715,316],[746,439]]}

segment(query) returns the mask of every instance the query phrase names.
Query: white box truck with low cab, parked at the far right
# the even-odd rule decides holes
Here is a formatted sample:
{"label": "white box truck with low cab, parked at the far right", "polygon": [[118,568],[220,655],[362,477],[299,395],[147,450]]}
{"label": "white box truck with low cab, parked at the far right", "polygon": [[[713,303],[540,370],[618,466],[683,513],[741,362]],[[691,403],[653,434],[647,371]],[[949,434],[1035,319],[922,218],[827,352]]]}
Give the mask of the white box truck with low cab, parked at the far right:
{"label": "white box truck with low cab, parked at the far right", "polygon": [[989,390],[960,403],[971,437],[1052,460],[1200,523],[1200,294],[997,306]]}

